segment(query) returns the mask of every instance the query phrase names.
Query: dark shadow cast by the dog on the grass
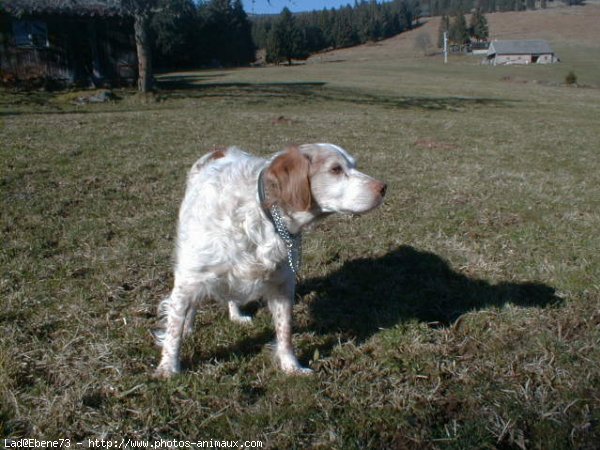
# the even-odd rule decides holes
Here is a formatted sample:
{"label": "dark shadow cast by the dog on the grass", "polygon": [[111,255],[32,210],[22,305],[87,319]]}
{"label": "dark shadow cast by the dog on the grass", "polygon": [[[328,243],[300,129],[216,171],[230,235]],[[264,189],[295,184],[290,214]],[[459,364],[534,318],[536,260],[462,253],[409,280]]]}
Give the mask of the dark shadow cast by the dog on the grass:
{"label": "dark shadow cast by the dog on the grass", "polygon": [[311,323],[306,331],[341,333],[358,343],[403,321],[447,326],[468,311],[508,303],[546,307],[561,301],[554,288],[545,284],[491,284],[459,273],[441,257],[410,246],[379,258],[348,261],[327,276],[305,280],[298,286],[298,294],[311,294]]}

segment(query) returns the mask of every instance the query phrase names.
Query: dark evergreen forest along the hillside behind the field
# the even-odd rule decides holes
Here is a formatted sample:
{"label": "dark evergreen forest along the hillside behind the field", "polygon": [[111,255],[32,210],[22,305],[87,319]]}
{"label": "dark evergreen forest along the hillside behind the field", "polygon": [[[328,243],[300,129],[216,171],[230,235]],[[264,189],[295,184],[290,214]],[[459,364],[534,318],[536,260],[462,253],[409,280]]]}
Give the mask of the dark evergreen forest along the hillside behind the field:
{"label": "dark evergreen forest along the hillside behind the field", "polygon": [[[242,66],[266,49],[271,63],[325,49],[376,42],[410,30],[424,16],[546,8],[557,0],[355,0],[338,9],[249,16],[242,0],[163,0],[151,21],[159,68]],[[567,5],[583,0],[562,0]]]}

